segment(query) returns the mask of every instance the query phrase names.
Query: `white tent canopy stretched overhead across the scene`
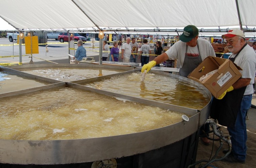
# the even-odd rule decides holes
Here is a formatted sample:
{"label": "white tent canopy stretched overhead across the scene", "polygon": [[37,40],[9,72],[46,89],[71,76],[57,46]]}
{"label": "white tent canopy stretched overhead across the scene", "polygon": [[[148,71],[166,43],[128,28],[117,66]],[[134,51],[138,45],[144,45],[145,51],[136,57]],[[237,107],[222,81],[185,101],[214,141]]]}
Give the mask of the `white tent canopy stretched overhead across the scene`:
{"label": "white tent canopy stretched overhead across the scene", "polygon": [[[175,34],[187,25],[195,25],[201,34],[208,34],[243,26],[249,33],[246,35],[256,36],[256,0],[0,0],[0,3],[0,17],[23,31],[102,29]],[[0,30],[6,28],[1,24]]]}

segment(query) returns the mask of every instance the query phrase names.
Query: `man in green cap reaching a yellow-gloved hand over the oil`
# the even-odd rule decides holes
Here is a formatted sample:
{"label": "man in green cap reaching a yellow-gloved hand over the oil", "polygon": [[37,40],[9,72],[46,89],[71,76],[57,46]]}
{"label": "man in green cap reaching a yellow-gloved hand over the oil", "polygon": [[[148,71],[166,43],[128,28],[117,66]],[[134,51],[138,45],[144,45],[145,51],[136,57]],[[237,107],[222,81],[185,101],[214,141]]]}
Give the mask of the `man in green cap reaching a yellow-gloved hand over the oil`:
{"label": "man in green cap reaching a yellow-gloved hand over the oil", "polygon": [[[145,64],[141,72],[147,72],[156,64],[160,64],[168,59],[177,59],[177,67],[180,68],[179,75],[187,77],[206,57],[215,56],[212,44],[202,38],[198,38],[198,29],[193,25],[184,28],[180,41],[172,45],[165,53],[156,57],[153,61]],[[201,133],[203,127],[201,127]],[[204,132],[209,131],[209,125],[205,125]],[[210,144],[210,140],[206,137],[201,138],[205,145]]]}

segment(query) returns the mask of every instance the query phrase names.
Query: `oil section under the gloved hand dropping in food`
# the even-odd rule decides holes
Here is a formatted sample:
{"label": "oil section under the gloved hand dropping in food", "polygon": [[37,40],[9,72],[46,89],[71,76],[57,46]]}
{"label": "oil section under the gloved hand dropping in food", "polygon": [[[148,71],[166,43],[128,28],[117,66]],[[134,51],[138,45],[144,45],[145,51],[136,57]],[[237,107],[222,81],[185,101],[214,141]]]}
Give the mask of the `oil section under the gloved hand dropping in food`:
{"label": "oil section under the gloved hand dropping in food", "polygon": [[194,109],[201,109],[210,101],[205,92],[195,85],[152,73],[147,73],[143,82],[141,73],[136,72],[82,85]]}

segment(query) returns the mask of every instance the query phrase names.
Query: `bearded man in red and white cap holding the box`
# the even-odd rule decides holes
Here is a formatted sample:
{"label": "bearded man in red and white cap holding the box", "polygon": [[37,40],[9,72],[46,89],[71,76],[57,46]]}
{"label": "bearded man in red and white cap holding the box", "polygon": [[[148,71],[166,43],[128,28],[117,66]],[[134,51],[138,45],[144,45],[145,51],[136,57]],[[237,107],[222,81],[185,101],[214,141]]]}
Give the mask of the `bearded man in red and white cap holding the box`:
{"label": "bearded man in red and white cap holding the box", "polygon": [[[222,35],[232,53],[229,59],[241,67],[242,77],[238,79],[218,99],[213,98],[211,117],[219,124],[227,126],[231,135],[232,151],[223,159],[229,163],[245,163],[246,159],[246,112],[251,107],[253,83],[256,72],[256,54],[246,43],[245,35],[240,29],[229,30]],[[228,150],[223,150],[227,153]]]}

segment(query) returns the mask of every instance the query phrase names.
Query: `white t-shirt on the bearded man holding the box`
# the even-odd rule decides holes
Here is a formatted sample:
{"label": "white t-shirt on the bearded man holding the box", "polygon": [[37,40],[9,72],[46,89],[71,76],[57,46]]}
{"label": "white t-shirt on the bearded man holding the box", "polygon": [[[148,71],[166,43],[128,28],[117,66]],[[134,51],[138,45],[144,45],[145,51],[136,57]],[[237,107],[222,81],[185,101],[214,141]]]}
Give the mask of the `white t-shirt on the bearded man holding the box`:
{"label": "white t-shirt on the bearded man holding the box", "polygon": [[[234,58],[236,54],[231,54],[230,57]],[[256,72],[256,53],[251,49],[250,45],[246,45],[244,49],[235,58],[234,63],[242,68],[242,78],[251,78],[250,84],[246,87],[244,95],[254,93],[253,83]]]}

